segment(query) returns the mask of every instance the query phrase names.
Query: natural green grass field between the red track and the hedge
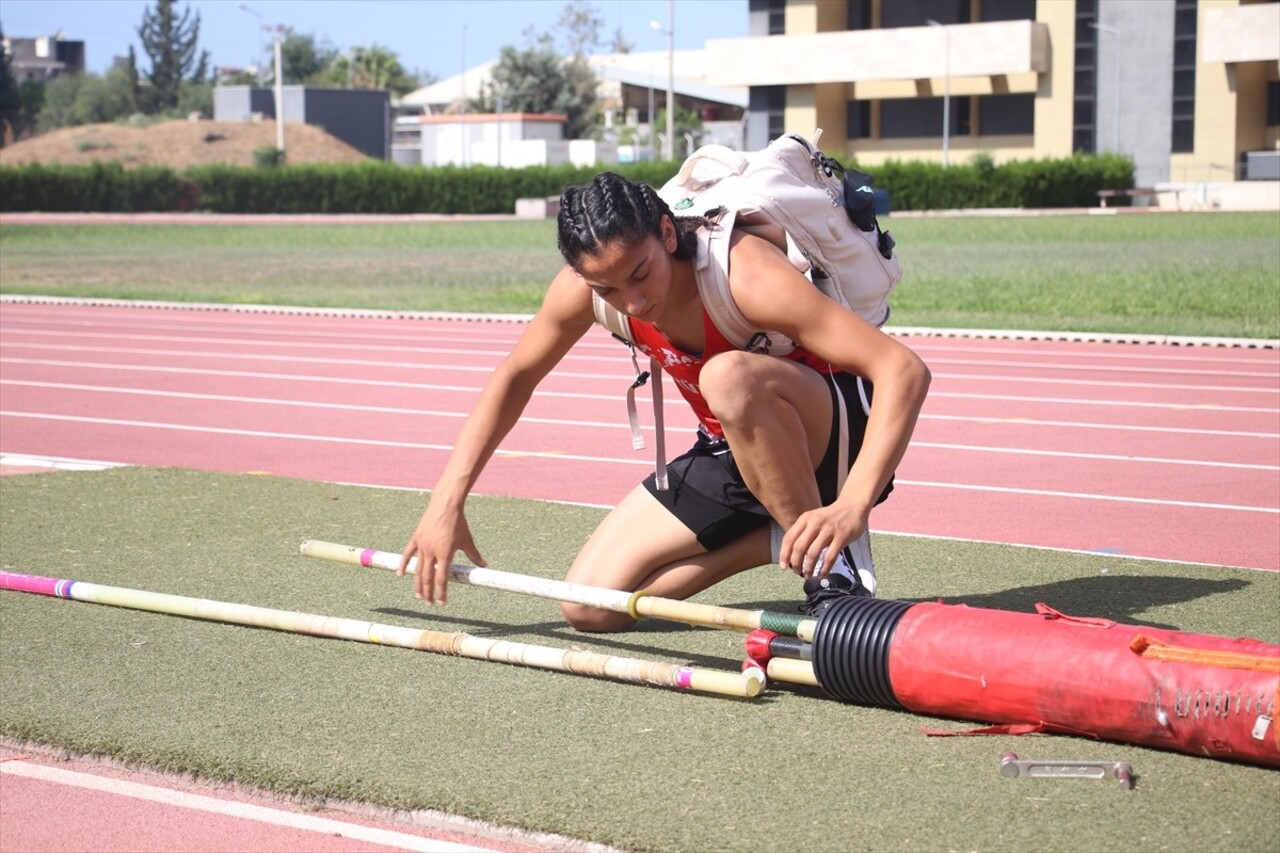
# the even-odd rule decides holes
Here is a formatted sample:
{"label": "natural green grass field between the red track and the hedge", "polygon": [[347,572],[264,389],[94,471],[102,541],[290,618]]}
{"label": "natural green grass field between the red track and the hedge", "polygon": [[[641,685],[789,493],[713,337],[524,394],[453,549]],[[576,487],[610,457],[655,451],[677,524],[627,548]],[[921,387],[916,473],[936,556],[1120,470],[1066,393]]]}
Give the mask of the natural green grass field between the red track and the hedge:
{"label": "natural green grass field between the red track and the hedge", "polygon": [[[890,219],[895,325],[1280,338],[1280,215]],[[549,222],[15,225],[0,292],[531,313]]]}

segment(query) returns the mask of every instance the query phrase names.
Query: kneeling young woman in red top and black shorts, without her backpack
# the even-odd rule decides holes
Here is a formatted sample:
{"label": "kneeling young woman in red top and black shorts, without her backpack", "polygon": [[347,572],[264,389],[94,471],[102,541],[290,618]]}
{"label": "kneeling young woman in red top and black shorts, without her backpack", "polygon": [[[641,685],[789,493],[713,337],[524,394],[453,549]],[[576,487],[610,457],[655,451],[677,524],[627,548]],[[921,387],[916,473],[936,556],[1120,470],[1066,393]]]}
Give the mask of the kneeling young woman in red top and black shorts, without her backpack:
{"label": "kneeling young woman in red top and black shorts, without her backpack", "polygon": [[[810,613],[835,596],[874,594],[868,517],[892,488],[929,370],[823,296],[783,250],[741,231],[730,236],[732,298],[751,324],[799,348],[786,357],[735,348],[699,296],[698,246],[714,227],[675,216],[653,187],[608,172],[564,191],[566,266],[485,383],[404,546],[401,574],[417,557],[420,599],[444,603],[458,551],[485,565],[467,525],[467,494],[534,388],[591,327],[593,293],[627,315],[637,346],[672,375],[700,428],[694,448],[668,465],[669,488],[650,475],[627,494],[566,579],[687,598],[778,562],[805,579]],[[584,631],[632,624],[626,613],[561,607]]]}

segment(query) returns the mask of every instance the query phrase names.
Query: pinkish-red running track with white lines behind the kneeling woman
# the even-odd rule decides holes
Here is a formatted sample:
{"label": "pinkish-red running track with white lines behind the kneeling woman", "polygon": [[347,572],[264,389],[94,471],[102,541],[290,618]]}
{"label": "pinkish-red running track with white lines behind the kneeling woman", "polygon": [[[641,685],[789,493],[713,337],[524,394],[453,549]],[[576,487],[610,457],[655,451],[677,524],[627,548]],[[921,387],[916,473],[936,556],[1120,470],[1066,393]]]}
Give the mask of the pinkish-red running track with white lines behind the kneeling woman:
{"label": "pinkish-red running track with white lines behind the kneeling woman", "polygon": [[[425,489],[522,328],[4,304],[0,452]],[[1280,567],[1275,350],[905,342],[933,388],[873,529]],[[477,492],[608,506],[644,476],[625,352],[575,347]],[[666,388],[675,455],[692,419]]]}

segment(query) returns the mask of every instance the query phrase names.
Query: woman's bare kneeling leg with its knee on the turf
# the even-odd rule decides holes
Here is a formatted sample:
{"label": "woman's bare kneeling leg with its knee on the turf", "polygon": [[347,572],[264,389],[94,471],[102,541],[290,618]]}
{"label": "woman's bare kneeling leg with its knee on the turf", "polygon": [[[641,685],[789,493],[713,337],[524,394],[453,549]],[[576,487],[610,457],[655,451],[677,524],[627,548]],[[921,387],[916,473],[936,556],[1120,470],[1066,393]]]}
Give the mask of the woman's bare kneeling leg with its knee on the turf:
{"label": "woman's bare kneeling leg with its knee on the turf", "polygon": [[[662,598],[689,598],[767,562],[767,525],[708,551],[692,530],[637,485],[586,540],[564,580],[605,589],[648,589]],[[626,613],[585,605],[564,602],[561,610],[582,631],[625,630],[634,622]]]}

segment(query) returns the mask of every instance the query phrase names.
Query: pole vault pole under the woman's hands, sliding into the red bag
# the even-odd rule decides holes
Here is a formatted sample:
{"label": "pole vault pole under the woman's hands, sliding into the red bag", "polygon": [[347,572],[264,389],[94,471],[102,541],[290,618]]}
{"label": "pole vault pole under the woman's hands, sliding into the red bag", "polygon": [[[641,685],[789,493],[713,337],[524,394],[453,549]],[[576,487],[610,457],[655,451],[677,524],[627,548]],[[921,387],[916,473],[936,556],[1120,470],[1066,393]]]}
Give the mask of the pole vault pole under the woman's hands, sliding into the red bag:
{"label": "pole vault pole under the woman's hands, sliding into the red bag", "polygon": [[[307,539],[302,543],[302,553],[320,560],[346,562],[367,569],[387,569],[396,571],[399,569],[401,556],[389,551],[374,551],[372,548],[356,548],[333,542],[319,542]],[[410,571],[416,571],[417,557],[410,561]],[[677,601],[675,598],[659,598],[650,596],[645,590],[634,593],[617,589],[604,589],[603,587],[589,587],[586,584],[571,584],[564,580],[549,580],[531,575],[517,575],[509,571],[495,569],[480,569],[477,566],[463,566],[453,564],[449,566],[449,576],[472,587],[486,587],[489,589],[503,589],[506,592],[535,596],[538,598],[554,598],[575,605],[588,605],[600,610],[612,610],[618,613],[630,613],[632,619],[645,616],[664,619],[687,625],[701,625],[705,628],[722,628],[726,630],[751,631],[755,629],[771,630],[774,634],[786,637],[799,637],[804,640],[813,639],[813,631],[818,621],[800,615],[778,613],[768,610],[740,610],[736,607],[717,607],[714,605],[699,605],[691,601]]]}

